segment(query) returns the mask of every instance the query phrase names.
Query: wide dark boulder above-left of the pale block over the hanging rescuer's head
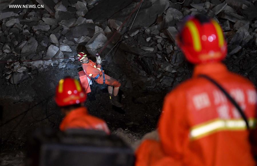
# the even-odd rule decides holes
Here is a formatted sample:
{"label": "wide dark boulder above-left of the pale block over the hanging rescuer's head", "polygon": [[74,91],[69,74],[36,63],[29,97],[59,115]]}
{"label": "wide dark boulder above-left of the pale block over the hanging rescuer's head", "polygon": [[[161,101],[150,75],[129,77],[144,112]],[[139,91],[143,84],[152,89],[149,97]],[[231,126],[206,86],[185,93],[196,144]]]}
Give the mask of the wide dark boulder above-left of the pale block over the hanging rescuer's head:
{"label": "wide dark boulder above-left of the pale block over the hanging rescuer's head", "polygon": [[95,32],[95,25],[91,23],[84,23],[73,27],[70,31],[66,34],[66,38],[74,39],[79,38],[81,36],[89,36],[92,37]]}

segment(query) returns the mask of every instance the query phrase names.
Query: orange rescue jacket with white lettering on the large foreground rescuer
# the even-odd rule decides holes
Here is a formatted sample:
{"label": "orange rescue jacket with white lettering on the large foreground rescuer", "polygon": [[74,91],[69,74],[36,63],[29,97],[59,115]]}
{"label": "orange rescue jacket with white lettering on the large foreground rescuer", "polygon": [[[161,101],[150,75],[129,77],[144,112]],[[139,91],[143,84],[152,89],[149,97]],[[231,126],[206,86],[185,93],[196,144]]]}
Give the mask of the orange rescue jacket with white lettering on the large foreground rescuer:
{"label": "orange rescue jacket with white lettering on the large foreground rescuer", "polygon": [[[230,93],[253,134],[223,92],[199,74],[210,76]],[[210,63],[197,65],[193,77],[166,96],[158,131],[165,155],[176,160],[169,165],[256,165],[255,124],[254,85],[224,64]]]}

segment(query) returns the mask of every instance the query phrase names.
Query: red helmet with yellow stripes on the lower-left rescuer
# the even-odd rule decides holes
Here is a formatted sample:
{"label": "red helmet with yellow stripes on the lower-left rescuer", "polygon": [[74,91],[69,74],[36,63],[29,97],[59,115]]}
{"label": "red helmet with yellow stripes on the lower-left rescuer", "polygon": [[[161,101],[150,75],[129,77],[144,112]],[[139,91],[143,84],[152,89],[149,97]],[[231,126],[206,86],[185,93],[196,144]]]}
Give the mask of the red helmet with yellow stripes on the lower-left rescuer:
{"label": "red helmet with yellow stripes on the lower-left rescuer", "polygon": [[59,81],[55,90],[55,102],[58,106],[68,106],[85,102],[85,94],[81,83],[73,78],[64,78]]}

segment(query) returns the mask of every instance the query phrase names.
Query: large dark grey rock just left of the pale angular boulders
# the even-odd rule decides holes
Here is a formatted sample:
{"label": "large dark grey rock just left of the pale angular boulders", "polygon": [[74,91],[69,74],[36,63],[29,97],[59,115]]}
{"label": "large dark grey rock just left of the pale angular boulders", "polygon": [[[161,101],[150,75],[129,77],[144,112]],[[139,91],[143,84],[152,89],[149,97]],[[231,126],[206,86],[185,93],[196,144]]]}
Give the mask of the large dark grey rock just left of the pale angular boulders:
{"label": "large dark grey rock just left of the pale angular boulders", "polygon": [[28,56],[30,54],[35,53],[37,50],[37,41],[34,37],[29,38],[26,44],[22,47],[21,55]]}

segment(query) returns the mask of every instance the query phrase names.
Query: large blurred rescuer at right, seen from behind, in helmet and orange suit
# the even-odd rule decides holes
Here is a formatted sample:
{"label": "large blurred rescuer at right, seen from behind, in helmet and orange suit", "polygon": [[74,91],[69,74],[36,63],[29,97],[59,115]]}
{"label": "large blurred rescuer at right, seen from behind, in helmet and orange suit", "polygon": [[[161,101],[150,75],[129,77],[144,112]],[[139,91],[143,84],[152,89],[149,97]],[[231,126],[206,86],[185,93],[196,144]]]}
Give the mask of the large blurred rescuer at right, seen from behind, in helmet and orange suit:
{"label": "large blurred rescuer at right, seen from behind, in helmet and orange suit", "polygon": [[[144,141],[136,165],[256,165],[256,90],[221,63],[227,44],[220,25],[203,15],[187,17],[177,43],[195,64],[193,76],[165,97],[158,123],[160,141]],[[250,129],[224,93],[200,74],[228,91]],[[157,150],[159,156],[152,153]],[[155,160],[149,162],[151,154]]]}

